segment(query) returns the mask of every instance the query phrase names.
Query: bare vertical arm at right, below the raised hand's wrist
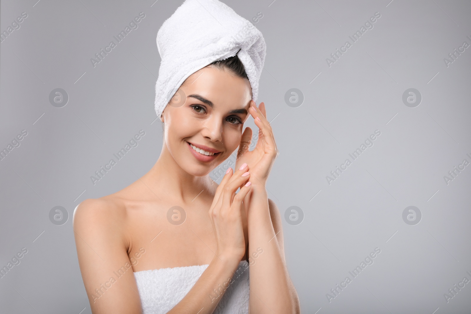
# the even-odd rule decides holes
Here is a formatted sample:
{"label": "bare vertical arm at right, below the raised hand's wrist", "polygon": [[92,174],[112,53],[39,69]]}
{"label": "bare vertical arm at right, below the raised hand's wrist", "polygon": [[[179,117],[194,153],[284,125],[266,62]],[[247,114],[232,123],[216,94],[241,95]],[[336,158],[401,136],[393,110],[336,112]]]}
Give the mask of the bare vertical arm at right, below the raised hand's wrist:
{"label": "bare vertical arm at right, below the raised hand's wrist", "polygon": [[263,185],[252,186],[247,203],[248,255],[251,258],[250,312],[299,314],[298,294],[284,259],[283,231],[278,208],[274,201],[268,199]]}

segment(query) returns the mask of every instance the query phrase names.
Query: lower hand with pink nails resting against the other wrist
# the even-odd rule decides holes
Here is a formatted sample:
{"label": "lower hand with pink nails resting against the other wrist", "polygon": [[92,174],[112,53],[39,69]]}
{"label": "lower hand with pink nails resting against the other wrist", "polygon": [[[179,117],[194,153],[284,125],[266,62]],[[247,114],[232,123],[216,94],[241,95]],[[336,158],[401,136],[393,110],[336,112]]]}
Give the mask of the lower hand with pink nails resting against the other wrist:
{"label": "lower hand with pink nails resting against the other wrist", "polygon": [[[226,175],[216,189],[214,200],[209,210],[212,228],[216,236],[216,255],[219,259],[233,261],[237,264],[245,254],[245,238],[242,223],[242,201],[250,191],[251,183],[248,166],[232,173],[229,168]],[[239,193],[235,193],[239,186],[244,185]]]}

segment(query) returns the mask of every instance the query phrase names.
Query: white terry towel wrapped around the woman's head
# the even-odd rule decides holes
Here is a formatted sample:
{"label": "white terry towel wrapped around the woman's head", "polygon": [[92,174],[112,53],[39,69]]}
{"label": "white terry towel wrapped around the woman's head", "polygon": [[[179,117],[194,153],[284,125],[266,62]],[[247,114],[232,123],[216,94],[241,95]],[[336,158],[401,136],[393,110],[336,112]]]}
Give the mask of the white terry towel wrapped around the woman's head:
{"label": "white terry towel wrapped around the woman's head", "polygon": [[226,4],[218,0],[185,0],[157,32],[162,59],[155,83],[157,116],[188,76],[236,53],[244,64],[252,99],[256,101],[266,47],[262,33]]}

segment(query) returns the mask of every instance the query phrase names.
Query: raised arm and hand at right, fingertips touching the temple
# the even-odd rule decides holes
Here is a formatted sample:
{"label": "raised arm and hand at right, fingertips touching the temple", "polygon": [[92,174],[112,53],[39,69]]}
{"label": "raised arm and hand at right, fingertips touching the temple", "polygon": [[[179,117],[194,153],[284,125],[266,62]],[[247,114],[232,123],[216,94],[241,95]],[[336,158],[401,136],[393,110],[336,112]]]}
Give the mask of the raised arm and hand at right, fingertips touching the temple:
{"label": "raised arm and hand at right, fingertips touching the temple", "polygon": [[[235,166],[245,162],[251,170],[252,190],[244,199],[247,209],[252,313],[300,313],[299,298],[284,260],[281,218],[275,202],[268,200],[266,183],[278,156],[265,104],[251,101],[250,114],[259,128],[257,145],[249,151],[252,129],[245,128]],[[260,254],[261,252],[261,254]]]}

